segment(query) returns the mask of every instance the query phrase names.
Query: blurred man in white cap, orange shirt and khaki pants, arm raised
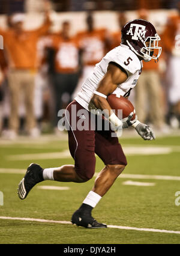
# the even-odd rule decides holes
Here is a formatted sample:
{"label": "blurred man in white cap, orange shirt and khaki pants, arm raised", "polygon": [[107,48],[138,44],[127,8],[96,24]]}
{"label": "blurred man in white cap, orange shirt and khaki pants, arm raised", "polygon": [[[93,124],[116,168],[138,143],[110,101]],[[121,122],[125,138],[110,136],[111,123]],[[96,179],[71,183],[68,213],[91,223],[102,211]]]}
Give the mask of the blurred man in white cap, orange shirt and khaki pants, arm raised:
{"label": "blurred man in white cap, orange shirt and khaki pants, arm raised", "polygon": [[4,46],[8,53],[8,87],[10,90],[10,130],[8,138],[15,139],[19,130],[19,100],[23,91],[26,107],[26,130],[31,136],[38,136],[34,117],[34,78],[37,72],[37,42],[50,26],[46,13],[44,25],[27,31],[23,28],[24,14],[14,14],[12,27],[0,30],[4,37]]}

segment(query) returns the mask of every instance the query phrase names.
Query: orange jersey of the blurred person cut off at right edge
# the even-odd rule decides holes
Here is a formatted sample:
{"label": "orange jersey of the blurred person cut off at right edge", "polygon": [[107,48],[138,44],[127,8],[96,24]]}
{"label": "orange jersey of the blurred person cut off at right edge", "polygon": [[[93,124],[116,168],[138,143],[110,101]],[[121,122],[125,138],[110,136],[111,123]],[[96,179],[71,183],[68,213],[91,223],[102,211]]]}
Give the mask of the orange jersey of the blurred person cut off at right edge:
{"label": "orange jersey of the blurred person cut off at right edge", "polygon": [[180,50],[180,16],[172,16],[164,29],[163,47],[166,52],[171,53],[173,49]]}

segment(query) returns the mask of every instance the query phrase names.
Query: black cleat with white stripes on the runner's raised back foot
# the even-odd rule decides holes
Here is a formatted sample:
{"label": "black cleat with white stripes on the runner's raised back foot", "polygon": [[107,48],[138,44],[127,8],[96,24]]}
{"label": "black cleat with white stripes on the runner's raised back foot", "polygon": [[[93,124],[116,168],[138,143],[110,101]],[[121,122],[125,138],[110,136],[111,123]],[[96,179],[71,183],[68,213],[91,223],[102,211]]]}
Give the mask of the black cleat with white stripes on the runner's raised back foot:
{"label": "black cleat with white stripes on the runner's raised back foot", "polygon": [[35,184],[43,181],[43,168],[36,163],[29,165],[25,177],[20,181],[17,194],[21,200],[25,199]]}

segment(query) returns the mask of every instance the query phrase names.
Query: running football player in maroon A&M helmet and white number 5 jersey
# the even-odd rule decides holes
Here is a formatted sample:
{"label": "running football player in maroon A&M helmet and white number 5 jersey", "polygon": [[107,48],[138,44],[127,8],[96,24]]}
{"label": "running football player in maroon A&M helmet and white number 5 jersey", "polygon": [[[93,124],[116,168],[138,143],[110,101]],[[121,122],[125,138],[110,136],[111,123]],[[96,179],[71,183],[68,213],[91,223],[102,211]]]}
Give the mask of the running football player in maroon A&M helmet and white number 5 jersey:
{"label": "running football player in maroon A&M helmet and white number 5 jersey", "polygon": [[[91,126],[91,109],[106,109],[105,116],[110,123],[118,127],[128,128],[133,125],[137,133],[146,140],[155,139],[154,132],[146,124],[137,119],[131,121],[120,120],[107,102],[109,94],[128,96],[142,71],[142,60],[151,61],[159,58],[161,47],[158,46],[158,36],[154,26],[146,20],[136,19],[128,22],[122,28],[122,43],[111,50],[95,66],[94,73],[82,85],[82,90],[67,107],[65,117],[70,125],[68,130],[69,148],[74,158],[74,165],[63,165],[58,168],[41,168],[32,163],[25,177],[20,181],[18,194],[20,199],[25,199],[35,184],[43,180],[73,181],[82,183],[91,179],[95,171],[95,153],[103,160],[104,168],[95,179],[94,187],[89,192],[80,208],[74,212],[71,222],[86,228],[106,228],[106,224],[97,222],[91,215],[92,209],[97,205],[106,192],[110,189],[116,178],[127,165],[124,152],[119,144],[118,137],[112,137],[112,130],[98,130],[97,115],[95,129],[74,129],[71,123],[72,109],[86,110],[88,116],[77,114],[76,121],[80,118],[89,118]],[[73,108],[72,108],[73,107]],[[68,114],[70,117],[68,117]],[[104,120],[104,119],[103,119]],[[107,121],[104,120],[104,123]]]}

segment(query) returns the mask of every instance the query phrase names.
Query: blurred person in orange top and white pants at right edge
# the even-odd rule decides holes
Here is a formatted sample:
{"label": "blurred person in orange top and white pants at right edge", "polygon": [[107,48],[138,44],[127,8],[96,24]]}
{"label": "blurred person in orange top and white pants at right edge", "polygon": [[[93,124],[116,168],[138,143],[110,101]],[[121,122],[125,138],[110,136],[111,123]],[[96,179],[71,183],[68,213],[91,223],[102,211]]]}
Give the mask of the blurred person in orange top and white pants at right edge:
{"label": "blurred person in orange top and white pants at right edge", "polygon": [[178,128],[180,124],[180,1],[177,13],[169,17],[163,33],[163,46],[167,58],[167,87],[169,100],[168,121]]}

